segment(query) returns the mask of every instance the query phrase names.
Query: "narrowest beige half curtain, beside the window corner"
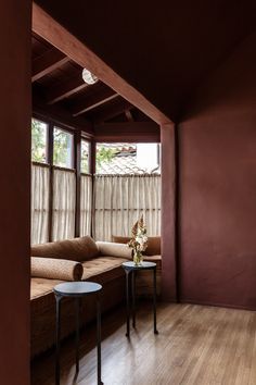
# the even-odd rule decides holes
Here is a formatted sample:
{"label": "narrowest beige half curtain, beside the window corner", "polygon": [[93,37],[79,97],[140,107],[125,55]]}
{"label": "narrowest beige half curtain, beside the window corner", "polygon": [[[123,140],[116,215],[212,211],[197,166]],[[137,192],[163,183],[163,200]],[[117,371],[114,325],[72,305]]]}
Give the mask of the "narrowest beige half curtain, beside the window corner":
{"label": "narrowest beige half curtain, beside the window corner", "polygon": [[92,176],[81,175],[80,183],[80,236],[91,235]]}

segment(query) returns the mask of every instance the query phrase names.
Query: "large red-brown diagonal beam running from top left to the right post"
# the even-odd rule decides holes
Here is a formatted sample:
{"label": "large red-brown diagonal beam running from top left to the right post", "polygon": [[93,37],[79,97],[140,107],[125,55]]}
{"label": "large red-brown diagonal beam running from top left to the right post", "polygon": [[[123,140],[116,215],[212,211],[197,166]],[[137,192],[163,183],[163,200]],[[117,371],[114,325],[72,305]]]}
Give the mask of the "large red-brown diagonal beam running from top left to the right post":
{"label": "large red-brown diagonal beam running from top left to the right post", "polygon": [[113,88],[131,104],[143,111],[158,124],[168,124],[170,119],[152,104],[141,92],[115,73],[95,55],[85,42],[78,40],[35,2],[33,3],[33,30],[64,52],[81,67],[91,71],[100,80]]}

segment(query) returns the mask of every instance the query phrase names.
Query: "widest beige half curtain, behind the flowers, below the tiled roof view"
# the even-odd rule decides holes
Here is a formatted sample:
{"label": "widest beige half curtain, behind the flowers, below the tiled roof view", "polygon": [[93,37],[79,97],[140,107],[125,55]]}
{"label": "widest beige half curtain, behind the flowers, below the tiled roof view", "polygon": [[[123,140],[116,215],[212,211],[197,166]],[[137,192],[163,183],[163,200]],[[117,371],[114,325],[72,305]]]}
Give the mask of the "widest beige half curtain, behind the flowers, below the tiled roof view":
{"label": "widest beige half curtain, behind the flowers, below the tiled roof view", "polygon": [[97,240],[129,236],[144,215],[148,235],[161,234],[161,175],[95,175],[94,225]]}

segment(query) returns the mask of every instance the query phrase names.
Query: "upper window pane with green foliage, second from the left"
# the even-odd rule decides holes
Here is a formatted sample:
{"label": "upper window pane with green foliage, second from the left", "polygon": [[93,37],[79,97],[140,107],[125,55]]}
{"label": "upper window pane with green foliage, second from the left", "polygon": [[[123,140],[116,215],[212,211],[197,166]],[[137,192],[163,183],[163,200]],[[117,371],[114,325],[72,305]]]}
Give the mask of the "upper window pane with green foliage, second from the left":
{"label": "upper window pane with green foliage, second from the left", "polygon": [[73,134],[54,127],[53,164],[61,167],[73,167]]}

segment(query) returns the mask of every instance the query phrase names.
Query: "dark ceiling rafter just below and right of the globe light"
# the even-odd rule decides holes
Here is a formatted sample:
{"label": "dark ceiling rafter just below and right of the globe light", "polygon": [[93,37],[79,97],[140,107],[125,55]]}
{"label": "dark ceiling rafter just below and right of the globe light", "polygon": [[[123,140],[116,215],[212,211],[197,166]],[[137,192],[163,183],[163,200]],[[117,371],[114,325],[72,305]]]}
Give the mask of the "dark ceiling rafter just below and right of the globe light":
{"label": "dark ceiling rafter just below and right of the globe light", "polygon": [[71,108],[73,116],[81,115],[82,113],[94,110],[95,108],[110,102],[118,97],[118,94],[114,92],[111,88],[105,88],[101,92],[86,96],[82,99],[78,99],[77,103]]}

